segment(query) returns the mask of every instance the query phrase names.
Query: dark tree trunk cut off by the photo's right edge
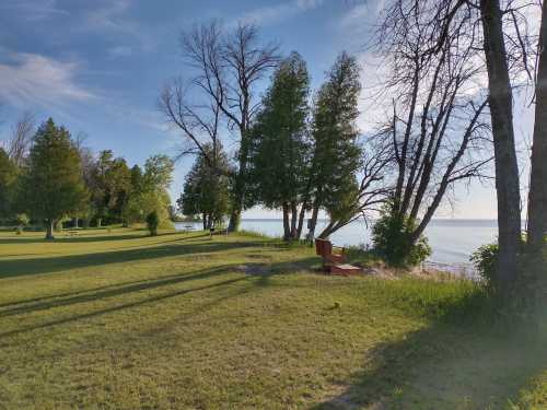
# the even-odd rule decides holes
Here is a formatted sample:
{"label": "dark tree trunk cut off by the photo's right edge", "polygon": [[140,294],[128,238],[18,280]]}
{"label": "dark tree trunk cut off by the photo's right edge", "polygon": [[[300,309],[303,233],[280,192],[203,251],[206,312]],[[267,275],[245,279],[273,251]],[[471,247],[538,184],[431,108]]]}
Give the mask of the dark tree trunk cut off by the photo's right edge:
{"label": "dark tree trunk cut off by the photo's right edge", "polygon": [[547,1],[542,10],[536,113],[528,194],[528,251],[542,255],[547,235]]}

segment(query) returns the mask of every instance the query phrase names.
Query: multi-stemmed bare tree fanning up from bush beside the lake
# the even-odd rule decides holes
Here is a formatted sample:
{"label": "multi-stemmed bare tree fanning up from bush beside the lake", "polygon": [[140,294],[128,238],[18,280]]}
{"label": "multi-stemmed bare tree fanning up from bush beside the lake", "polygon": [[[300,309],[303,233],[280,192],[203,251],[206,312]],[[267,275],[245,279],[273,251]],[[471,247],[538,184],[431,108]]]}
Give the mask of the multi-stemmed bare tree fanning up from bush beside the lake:
{"label": "multi-stemmed bare tree fanning up from bush beside the lake", "polygon": [[411,243],[449,188],[485,176],[491,161],[484,150],[488,97],[476,86],[481,65],[468,46],[474,33],[435,36],[431,10],[429,2],[395,2],[385,12],[376,44],[389,70],[383,90],[393,97],[393,116],[384,127],[396,164],[393,212],[418,221]]}

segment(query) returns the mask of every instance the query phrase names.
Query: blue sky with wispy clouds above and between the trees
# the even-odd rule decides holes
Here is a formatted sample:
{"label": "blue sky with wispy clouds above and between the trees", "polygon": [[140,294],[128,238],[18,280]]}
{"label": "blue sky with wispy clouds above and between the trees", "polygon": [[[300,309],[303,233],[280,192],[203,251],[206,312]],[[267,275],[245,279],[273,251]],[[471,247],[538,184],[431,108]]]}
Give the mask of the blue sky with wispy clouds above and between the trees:
{"label": "blue sky with wispy clouds above and between the trees", "polygon": [[[85,133],[95,152],[109,149],[129,165],[154,154],[175,156],[183,138],[158,109],[162,87],[190,73],[182,58],[185,30],[211,19],[260,28],[264,42],[306,60],[312,89],[336,56],[347,50],[363,62],[363,83],[376,69],[364,45],[382,0],[0,0],[0,140],[26,110],[38,121],[53,117],[73,133]],[[263,85],[265,86],[266,83]],[[374,121],[361,101],[359,125]],[[529,131],[529,113],[516,113],[519,136]],[[226,137],[228,138],[228,137]],[[525,141],[524,141],[525,142]],[[175,200],[193,159],[177,162],[171,187]],[[493,185],[456,189],[457,201],[438,218],[493,219]],[[277,216],[253,209],[244,218]]]}

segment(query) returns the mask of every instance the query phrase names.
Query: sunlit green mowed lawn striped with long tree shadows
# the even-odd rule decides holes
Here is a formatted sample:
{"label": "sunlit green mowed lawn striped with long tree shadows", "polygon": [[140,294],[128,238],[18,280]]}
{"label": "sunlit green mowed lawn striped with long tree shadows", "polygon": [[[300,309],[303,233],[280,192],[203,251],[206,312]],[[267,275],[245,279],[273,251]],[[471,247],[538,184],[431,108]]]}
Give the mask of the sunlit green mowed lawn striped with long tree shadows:
{"label": "sunlit green mowed lawn striped with long tree shadows", "polygon": [[0,233],[0,409],[547,408],[545,340],[450,319],[467,282],[327,277],[252,235],[42,235]]}

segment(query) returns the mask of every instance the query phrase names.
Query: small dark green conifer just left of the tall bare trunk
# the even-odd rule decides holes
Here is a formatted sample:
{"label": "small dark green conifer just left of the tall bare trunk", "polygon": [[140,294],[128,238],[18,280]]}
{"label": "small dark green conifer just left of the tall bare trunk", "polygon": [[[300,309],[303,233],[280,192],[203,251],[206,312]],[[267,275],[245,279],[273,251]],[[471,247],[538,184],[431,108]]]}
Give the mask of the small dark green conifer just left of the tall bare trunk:
{"label": "small dark green conifer just left of the tall bare trunk", "polygon": [[[205,151],[213,159],[216,166],[208,165],[205,155],[198,155],[190,172],[186,175],[183,192],[177,200],[178,208],[184,215],[201,215],[203,230],[211,229],[222,222],[229,213],[229,178],[226,177],[228,159],[222,148],[214,150],[205,145]],[[217,172],[224,169],[224,172]]]}

